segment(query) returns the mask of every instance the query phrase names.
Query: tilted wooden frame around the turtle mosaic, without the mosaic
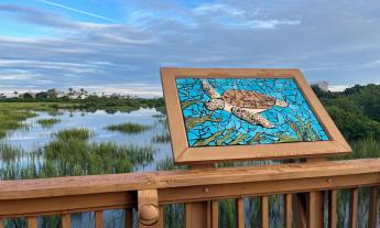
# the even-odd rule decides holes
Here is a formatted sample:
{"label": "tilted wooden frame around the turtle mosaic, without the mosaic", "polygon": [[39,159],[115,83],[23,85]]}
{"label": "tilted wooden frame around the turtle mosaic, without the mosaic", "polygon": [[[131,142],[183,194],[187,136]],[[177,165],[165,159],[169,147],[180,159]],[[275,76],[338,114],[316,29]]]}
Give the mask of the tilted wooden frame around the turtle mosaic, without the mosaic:
{"label": "tilted wooden frame around the turtle mosaic, without the mosaic", "polygon": [[[161,68],[161,78],[172,139],[173,160],[176,164],[317,158],[351,152],[350,146],[298,69],[164,67]],[[189,146],[176,85],[178,78],[293,78],[328,135],[328,140],[254,145]]]}

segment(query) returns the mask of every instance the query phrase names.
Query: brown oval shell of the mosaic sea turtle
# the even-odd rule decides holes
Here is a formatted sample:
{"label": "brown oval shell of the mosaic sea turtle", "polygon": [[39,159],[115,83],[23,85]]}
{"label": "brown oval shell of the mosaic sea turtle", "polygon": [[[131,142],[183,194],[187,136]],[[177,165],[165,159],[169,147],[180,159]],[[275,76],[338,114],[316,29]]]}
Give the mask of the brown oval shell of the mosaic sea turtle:
{"label": "brown oval shell of the mosaic sea turtle", "polygon": [[222,100],[240,108],[268,109],[275,105],[275,98],[250,90],[227,90]]}

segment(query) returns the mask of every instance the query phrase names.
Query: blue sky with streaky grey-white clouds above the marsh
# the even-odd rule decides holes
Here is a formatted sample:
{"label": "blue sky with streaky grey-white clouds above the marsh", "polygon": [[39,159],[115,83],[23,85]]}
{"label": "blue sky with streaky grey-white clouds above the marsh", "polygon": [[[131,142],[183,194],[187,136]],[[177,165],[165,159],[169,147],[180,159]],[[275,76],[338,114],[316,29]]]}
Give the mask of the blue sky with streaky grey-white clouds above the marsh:
{"label": "blue sky with streaky grey-white clouds above the marsh", "polygon": [[0,93],[162,96],[160,67],[380,83],[378,0],[0,0]]}

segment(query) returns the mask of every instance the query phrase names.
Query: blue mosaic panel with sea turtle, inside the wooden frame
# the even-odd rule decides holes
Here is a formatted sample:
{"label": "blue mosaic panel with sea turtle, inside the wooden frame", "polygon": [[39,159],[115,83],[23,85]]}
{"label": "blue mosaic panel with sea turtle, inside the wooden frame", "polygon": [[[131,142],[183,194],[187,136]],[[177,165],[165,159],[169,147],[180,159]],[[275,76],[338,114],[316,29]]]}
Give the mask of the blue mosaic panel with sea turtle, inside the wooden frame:
{"label": "blue mosaic panel with sea turtle, inside the wooden frame", "polygon": [[292,78],[177,78],[176,86],[191,148],[329,140]]}

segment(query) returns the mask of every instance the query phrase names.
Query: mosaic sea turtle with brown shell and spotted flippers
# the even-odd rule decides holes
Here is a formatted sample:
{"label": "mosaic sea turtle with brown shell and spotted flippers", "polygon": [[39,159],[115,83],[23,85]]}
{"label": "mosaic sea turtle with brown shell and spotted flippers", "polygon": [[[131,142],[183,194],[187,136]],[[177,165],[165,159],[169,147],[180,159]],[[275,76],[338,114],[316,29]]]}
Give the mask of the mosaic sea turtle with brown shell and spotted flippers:
{"label": "mosaic sea turtle with brown shell and spotted flippers", "polygon": [[202,89],[211,98],[205,104],[208,110],[225,110],[264,128],[273,128],[274,124],[261,117],[260,112],[273,106],[287,107],[284,100],[251,90],[230,89],[220,96],[207,80],[202,80]]}

